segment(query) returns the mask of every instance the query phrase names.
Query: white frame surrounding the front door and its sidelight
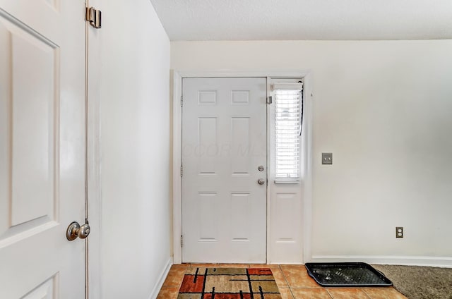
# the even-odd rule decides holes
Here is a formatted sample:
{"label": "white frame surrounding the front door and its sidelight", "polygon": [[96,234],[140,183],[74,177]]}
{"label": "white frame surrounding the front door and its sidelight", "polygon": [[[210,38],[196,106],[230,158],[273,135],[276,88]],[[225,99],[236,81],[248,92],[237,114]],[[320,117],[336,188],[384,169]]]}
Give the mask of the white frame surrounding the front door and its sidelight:
{"label": "white frame surrounding the front door and its sidelight", "polygon": [[[263,77],[263,78],[304,78],[304,130],[305,140],[302,157],[304,178],[304,190],[302,192],[303,207],[303,262],[311,260],[311,219],[312,219],[312,72],[309,70],[263,70],[263,71],[198,71],[198,70],[170,70],[170,109],[172,110],[172,120],[170,121],[171,147],[172,147],[172,186],[170,188],[170,197],[172,197],[172,257],[173,264],[182,263],[182,176],[180,168],[182,165],[182,79],[183,78],[234,78],[234,77]],[[268,94],[268,91],[267,91]],[[270,131],[270,109],[267,109],[267,130]],[[270,135],[267,135],[268,150],[270,149]],[[270,166],[270,154],[267,152],[267,162]],[[268,171],[271,171],[268,168]],[[268,172],[270,173],[270,172]],[[267,174],[268,175],[268,174]],[[266,241],[266,260],[271,260],[269,251],[269,231],[270,231],[270,185],[267,186],[267,241]]]}

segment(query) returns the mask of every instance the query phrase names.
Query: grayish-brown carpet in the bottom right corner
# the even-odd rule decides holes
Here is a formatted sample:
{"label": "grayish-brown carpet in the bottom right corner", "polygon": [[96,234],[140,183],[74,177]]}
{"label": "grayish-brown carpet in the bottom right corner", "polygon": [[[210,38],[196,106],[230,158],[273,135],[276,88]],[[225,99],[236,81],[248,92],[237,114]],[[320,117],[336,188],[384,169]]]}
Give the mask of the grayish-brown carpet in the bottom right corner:
{"label": "grayish-brown carpet in the bottom right corner", "polygon": [[408,299],[452,299],[452,269],[372,264]]}

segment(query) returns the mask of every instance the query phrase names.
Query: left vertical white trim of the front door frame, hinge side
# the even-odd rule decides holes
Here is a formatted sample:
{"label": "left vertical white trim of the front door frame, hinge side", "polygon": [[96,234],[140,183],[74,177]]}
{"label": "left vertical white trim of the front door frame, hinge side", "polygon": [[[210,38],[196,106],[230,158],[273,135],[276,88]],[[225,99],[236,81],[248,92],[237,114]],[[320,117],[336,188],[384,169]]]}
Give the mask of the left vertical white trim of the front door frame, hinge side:
{"label": "left vertical white trim of the front door frame, hinge side", "polygon": [[182,263],[182,76],[177,71],[170,73],[170,97],[172,97],[172,229],[174,264]]}

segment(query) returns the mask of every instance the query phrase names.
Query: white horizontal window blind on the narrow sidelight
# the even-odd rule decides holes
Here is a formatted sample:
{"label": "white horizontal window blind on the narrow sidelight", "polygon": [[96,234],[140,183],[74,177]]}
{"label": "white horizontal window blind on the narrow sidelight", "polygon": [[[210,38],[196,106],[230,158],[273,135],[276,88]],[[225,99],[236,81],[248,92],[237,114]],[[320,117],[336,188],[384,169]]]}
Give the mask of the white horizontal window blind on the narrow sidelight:
{"label": "white horizontal window blind on the narrow sidelight", "polygon": [[302,83],[275,83],[275,176],[299,178]]}

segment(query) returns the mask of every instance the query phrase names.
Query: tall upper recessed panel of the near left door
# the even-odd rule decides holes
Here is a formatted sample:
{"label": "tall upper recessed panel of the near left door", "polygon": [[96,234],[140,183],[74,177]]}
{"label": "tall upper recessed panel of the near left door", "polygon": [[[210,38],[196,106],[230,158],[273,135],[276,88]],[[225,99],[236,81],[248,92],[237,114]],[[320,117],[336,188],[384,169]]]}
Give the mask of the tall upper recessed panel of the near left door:
{"label": "tall upper recessed panel of the near left door", "polygon": [[[54,219],[59,61],[52,43],[33,32],[11,33],[11,226]],[[24,88],[26,87],[26,88]]]}

